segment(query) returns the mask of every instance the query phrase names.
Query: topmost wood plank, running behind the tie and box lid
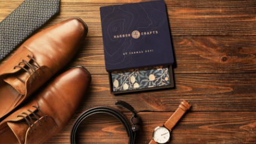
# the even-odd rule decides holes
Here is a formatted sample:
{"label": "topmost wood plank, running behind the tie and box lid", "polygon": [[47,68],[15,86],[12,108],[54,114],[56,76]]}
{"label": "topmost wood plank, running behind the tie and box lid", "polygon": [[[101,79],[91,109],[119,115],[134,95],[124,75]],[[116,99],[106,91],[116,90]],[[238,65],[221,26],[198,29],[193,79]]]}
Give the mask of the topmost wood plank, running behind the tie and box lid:
{"label": "topmost wood plank, running behind the tie and box lid", "polygon": [[[22,1],[12,1],[12,3],[0,1],[0,21],[8,16]],[[80,17],[90,29],[89,37],[101,37],[100,7],[141,1],[62,0],[60,15],[51,20],[45,27],[68,18]],[[256,1],[254,0],[166,0],[165,2],[173,36],[256,35]]]}

